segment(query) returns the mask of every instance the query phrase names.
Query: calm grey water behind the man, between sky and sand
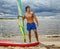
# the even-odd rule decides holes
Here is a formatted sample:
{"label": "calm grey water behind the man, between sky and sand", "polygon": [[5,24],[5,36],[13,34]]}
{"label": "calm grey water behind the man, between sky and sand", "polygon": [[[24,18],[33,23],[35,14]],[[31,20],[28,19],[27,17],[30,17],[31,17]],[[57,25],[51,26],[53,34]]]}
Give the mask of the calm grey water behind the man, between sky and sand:
{"label": "calm grey water behind the man, between sky and sand", "polygon": [[[51,35],[60,34],[60,19],[50,17],[37,17],[39,26],[37,27],[38,34],[40,35]],[[26,34],[26,21],[24,22],[24,28]],[[0,19],[0,35],[21,35],[19,26],[16,19]]]}

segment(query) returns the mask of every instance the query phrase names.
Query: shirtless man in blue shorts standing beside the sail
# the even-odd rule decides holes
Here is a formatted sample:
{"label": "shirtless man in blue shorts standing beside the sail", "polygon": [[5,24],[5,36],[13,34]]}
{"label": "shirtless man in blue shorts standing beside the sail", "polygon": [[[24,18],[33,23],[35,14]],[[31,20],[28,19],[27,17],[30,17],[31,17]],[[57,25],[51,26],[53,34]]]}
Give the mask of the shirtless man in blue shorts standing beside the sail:
{"label": "shirtless man in blue shorts standing beside the sail", "polygon": [[[26,6],[26,13],[23,16],[23,20],[26,19],[27,20],[27,30],[28,30],[28,36],[29,36],[29,42],[31,42],[31,30],[34,31],[35,33],[35,37],[36,40],[38,40],[38,34],[37,34],[37,27],[38,26],[38,20],[36,18],[36,16],[34,15],[34,13],[30,12],[30,6]],[[36,21],[36,24],[34,22],[34,20]]]}

